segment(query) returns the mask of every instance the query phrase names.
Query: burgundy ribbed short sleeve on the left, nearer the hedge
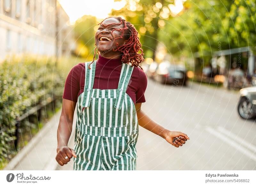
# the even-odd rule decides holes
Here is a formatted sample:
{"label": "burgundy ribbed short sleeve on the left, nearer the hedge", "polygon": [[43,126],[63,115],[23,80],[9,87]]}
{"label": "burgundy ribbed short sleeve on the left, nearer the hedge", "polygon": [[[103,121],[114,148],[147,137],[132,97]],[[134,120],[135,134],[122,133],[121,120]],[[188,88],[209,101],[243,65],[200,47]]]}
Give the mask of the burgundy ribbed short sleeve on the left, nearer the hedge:
{"label": "burgundy ribbed short sleeve on the left, nearer the hedge", "polygon": [[77,64],[69,71],[62,98],[77,102],[77,95],[80,90],[81,71],[80,64]]}

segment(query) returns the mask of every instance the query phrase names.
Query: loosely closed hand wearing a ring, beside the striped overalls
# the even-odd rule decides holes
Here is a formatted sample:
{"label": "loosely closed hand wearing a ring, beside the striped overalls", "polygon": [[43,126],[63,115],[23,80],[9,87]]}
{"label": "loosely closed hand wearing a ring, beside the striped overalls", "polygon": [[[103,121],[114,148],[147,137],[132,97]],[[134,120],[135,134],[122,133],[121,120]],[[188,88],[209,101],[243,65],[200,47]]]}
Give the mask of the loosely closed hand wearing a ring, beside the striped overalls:
{"label": "loosely closed hand wearing a ring, beside the striped overalls", "polygon": [[72,156],[76,158],[75,151],[67,146],[62,146],[60,148],[57,148],[57,156],[55,159],[61,166],[63,166],[70,161]]}

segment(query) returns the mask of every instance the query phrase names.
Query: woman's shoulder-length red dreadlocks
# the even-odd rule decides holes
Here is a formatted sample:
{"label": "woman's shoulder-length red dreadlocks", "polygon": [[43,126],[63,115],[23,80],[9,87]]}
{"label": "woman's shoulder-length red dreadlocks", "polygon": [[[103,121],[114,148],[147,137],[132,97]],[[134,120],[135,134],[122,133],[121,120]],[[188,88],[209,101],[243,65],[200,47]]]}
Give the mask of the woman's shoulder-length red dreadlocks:
{"label": "woman's shoulder-length red dreadlocks", "polygon": [[[122,59],[121,59],[121,61],[123,63],[127,63],[127,64],[131,63],[132,66],[139,66],[142,69],[142,67],[139,64],[142,61],[144,61],[144,58],[143,58],[144,54],[143,54],[143,50],[141,48],[141,43],[140,43],[140,40],[138,37],[138,32],[137,32],[136,28],[130,22],[122,19],[121,17],[108,17],[108,18],[116,18],[120,21],[119,25],[123,25],[124,27],[120,28],[120,29],[113,29],[112,32],[114,30],[122,31],[122,35],[120,37],[122,38],[124,36],[125,39],[127,40],[127,42],[121,46],[119,46],[119,43],[116,43],[116,49],[113,49],[113,51],[118,50],[123,53]],[[106,18],[106,19],[108,19],[108,18]],[[104,20],[106,20],[106,19],[104,19]],[[101,21],[99,24],[102,24],[103,21]],[[111,23],[111,24],[116,24],[116,23]],[[111,25],[111,24],[109,24],[109,25]],[[112,34],[112,32],[111,32],[111,34]],[[115,39],[117,39],[117,38],[115,38]],[[96,43],[95,43],[95,45],[96,45]],[[94,50],[93,61],[90,63],[90,65],[94,62],[94,58],[96,55],[96,48]],[[141,53],[138,53],[139,51],[141,51]],[[90,65],[88,66],[89,69],[91,69]]]}

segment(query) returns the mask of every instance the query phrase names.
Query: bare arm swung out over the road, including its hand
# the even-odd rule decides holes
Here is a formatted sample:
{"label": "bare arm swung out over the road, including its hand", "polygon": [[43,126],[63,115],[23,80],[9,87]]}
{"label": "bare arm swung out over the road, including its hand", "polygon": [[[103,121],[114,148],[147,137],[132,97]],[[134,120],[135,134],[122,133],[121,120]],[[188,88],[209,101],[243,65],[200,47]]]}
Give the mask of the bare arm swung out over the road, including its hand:
{"label": "bare arm swung out over the road, including its hand", "polygon": [[151,120],[146,113],[141,110],[141,103],[135,104],[139,125],[158,136],[164,138],[168,143],[171,143],[175,147],[182,146],[189,137],[180,132],[174,130],[168,130],[159,125],[155,121]]}

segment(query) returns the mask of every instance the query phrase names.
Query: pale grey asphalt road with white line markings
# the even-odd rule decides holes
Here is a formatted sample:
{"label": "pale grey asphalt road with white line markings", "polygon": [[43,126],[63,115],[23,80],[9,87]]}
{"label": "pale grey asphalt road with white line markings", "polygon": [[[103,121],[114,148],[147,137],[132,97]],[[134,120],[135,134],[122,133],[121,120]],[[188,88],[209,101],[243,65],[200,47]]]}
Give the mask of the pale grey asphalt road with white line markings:
{"label": "pale grey asphalt road with white line markings", "polygon": [[[256,170],[256,124],[239,118],[238,91],[148,80],[145,96],[142,110],[152,120],[188,134],[190,140],[176,148],[140,127],[137,170]],[[70,161],[56,170],[72,166]]]}

